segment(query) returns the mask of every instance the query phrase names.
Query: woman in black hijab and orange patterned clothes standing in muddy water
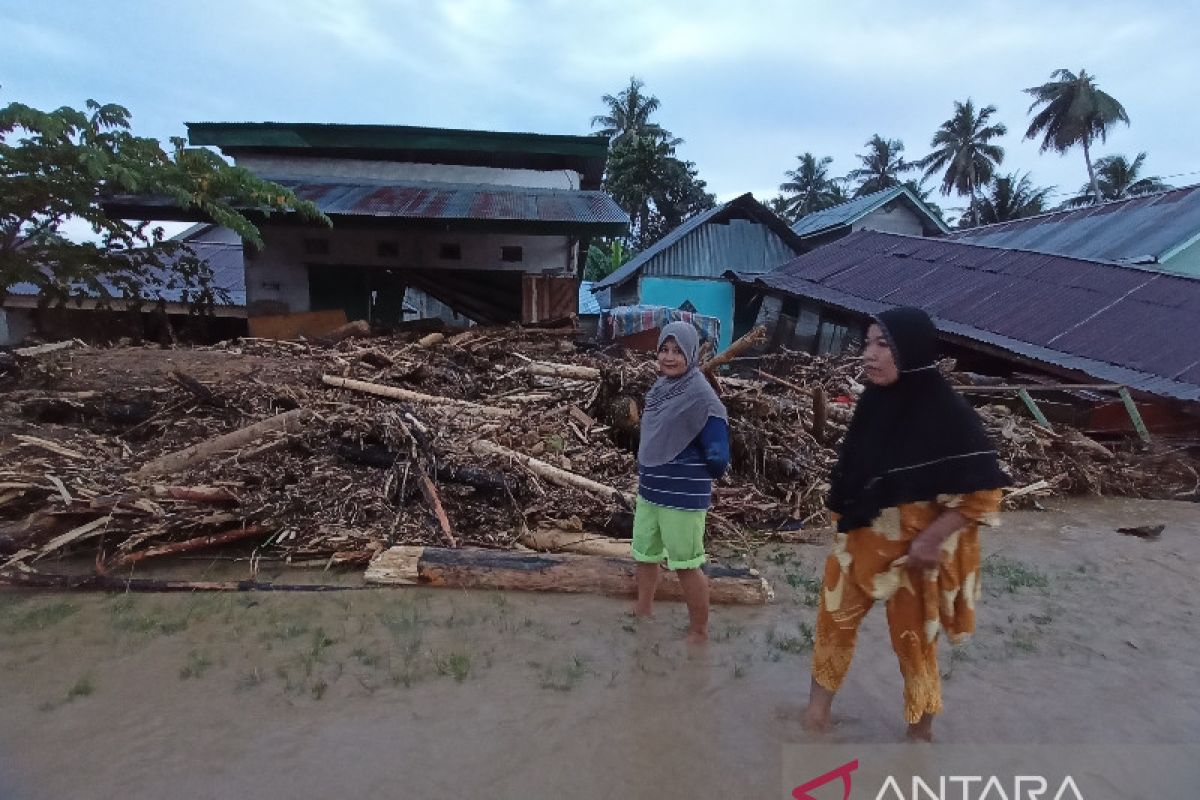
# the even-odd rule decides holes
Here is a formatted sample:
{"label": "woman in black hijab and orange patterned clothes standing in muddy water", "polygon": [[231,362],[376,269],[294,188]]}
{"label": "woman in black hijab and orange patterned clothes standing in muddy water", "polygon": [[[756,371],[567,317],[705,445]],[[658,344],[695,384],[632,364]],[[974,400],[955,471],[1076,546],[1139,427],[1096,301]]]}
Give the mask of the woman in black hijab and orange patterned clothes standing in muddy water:
{"label": "woman in black hijab and orange patterned clothes standing in muddy water", "polygon": [[932,739],[942,710],[937,634],[974,631],[979,524],[995,524],[1009,480],[978,415],[935,365],[937,331],[919,308],[878,314],[868,330],[858,401],[833,470],[838,523],[826,561],[805,727],[827,730],[858,626],[887,603],[904,676],[908,735]]}

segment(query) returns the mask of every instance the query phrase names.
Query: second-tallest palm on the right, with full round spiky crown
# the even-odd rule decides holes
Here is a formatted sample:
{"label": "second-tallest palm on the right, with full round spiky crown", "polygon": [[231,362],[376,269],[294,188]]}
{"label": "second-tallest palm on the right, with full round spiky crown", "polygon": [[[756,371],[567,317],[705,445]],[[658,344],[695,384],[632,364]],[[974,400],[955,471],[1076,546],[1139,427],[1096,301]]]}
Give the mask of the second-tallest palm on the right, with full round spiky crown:
{"label": "second-tallest palm on the right, with full round spiky crown", "polygon": [[991,144],[996,137],[1008,133],[1001,122],[989,124],[996,113],[995,106],[984,106],[976,114],[974,103],[954,102],[954,115],[942,122],[929,143],[934,151],[917,162],[925,168],[925,178],[942,174],[942,194],[958,192],[971,197],[971,218],[978,223],[976,193],[980,185],[991,180],[996,167],[1004,160],[1004,149]]}

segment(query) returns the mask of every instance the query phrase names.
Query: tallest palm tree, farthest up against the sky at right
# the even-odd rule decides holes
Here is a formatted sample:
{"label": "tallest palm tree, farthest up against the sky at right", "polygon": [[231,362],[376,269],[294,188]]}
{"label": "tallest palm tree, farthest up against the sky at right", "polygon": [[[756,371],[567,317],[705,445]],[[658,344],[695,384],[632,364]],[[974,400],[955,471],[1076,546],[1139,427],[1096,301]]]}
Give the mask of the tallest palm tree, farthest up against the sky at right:
{"label": "tallest palm tree, farthest up against the sky at right", "polygon": [[1092,166],[1092,143],[1105,142],[1109,128],[1116,122],[1129,125],[1129,115],[1115,97],[1096,88],[1096,78],[1080,70],[1076,76],[1070,70],[1055,70],[1050,82],[1025,90],[1033,97],[1030,112],[1043,106],[1025,132],[1026,139],[1040,134],[1042,152],[1056,150],[1067,152],[1074,145],[1084,146],[1087,178],[1092,185],[1094,203],[1100,201],[1100,187]]}

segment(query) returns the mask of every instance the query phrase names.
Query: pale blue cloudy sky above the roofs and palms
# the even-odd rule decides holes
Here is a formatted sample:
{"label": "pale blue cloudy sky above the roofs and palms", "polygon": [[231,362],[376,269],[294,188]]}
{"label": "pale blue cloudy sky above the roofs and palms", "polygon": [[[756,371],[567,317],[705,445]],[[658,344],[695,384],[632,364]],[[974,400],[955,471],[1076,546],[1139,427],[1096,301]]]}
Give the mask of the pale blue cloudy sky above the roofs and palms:
{"label": "pale blue cloudy sky above the roofs and palms", "polygon": [[1148,174],[1186,185],[1200,182],[1198,7],[0,0],[0,103],[116,102],[163,139],[185,121],[268,120],[587,133],[601,95],[636,74],[719,199],[766,199],[805,150],[839,175],[872,133],[920,157],[971,97],[1008,125],[1004,172],[1073,193],[1082,154],[1022,140],[1021,90],[1086,68],[1133,122],[1098,155],[1145,150]]}

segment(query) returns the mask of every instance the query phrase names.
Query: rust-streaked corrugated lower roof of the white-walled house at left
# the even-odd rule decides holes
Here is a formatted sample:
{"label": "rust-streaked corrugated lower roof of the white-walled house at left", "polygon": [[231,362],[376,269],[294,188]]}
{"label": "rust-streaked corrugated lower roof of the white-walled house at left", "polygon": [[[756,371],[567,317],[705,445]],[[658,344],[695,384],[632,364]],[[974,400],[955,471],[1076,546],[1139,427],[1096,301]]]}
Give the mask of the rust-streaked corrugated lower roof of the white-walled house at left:
{"label": "rust-streaked corrugated lower roof of the white-walled house at left", "polygon": [[628,225],[604,192],[425,181],[322,181],[268,178],[330,216],[496,219]]}

